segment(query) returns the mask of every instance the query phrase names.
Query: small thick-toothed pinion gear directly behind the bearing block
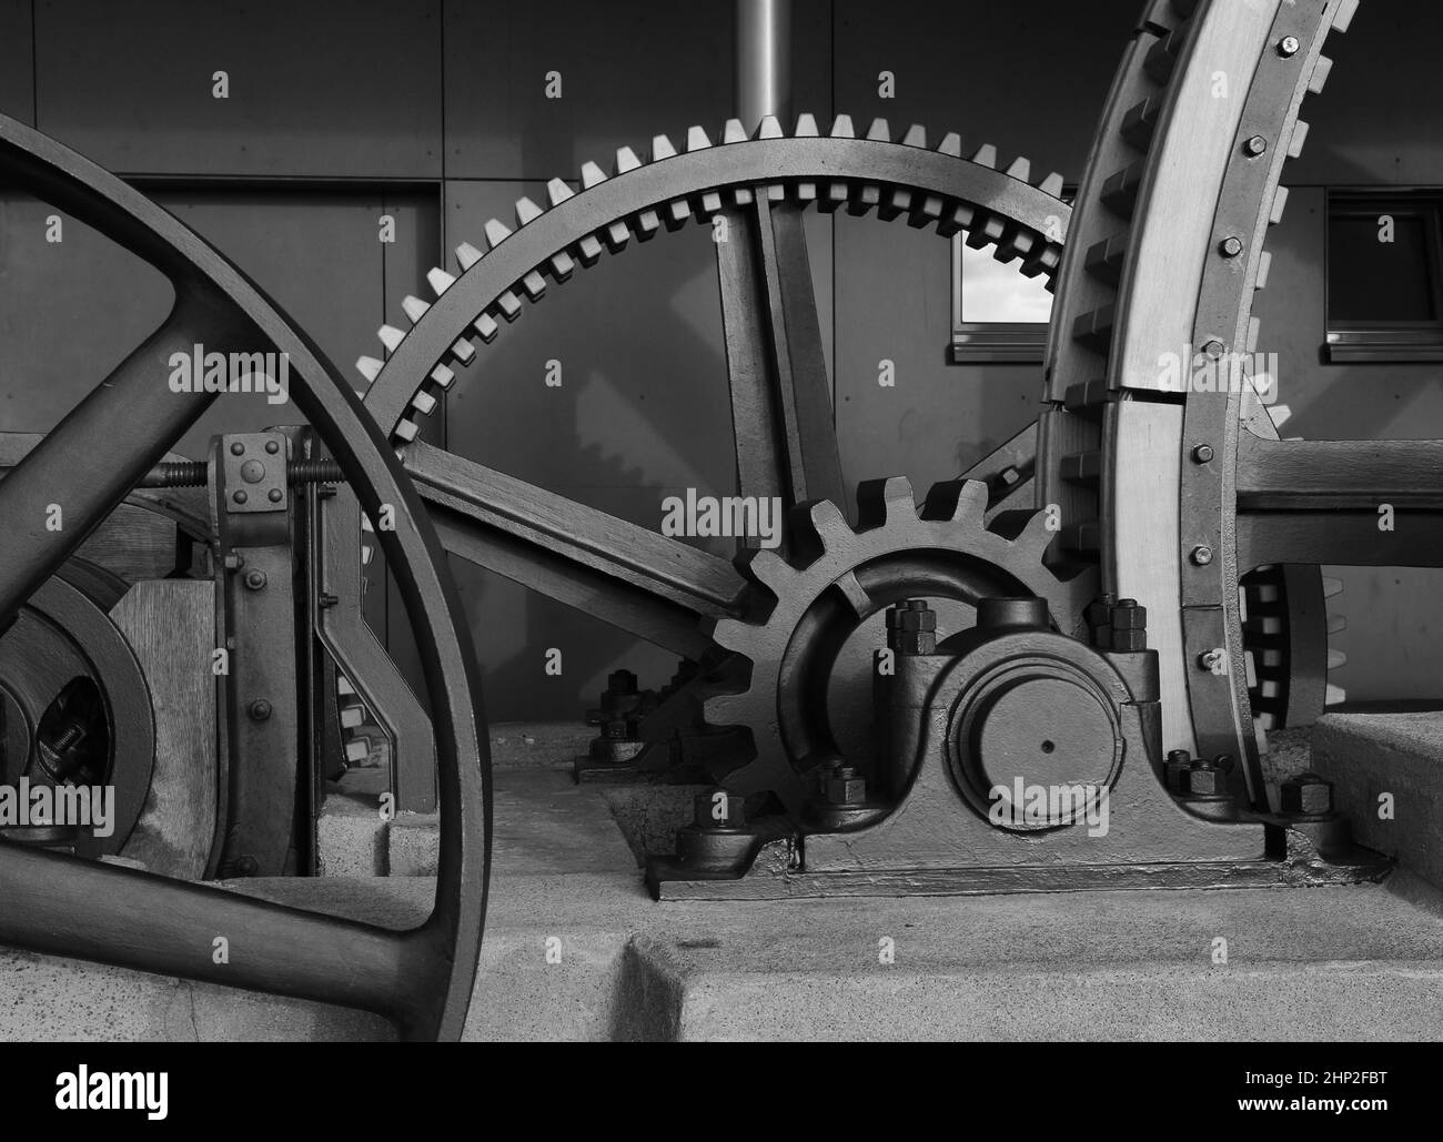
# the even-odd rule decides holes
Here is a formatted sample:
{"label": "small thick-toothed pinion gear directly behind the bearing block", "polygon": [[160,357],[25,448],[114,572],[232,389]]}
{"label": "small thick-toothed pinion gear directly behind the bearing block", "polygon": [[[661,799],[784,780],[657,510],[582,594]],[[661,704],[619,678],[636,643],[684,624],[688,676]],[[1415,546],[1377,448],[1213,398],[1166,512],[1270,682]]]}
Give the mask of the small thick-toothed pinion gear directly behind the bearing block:
{"label": "small thick-toothed pinion gear directly behind the bearing block", "polygon": [[[980,598],[1032,596],[1048,603],[1065,632],[1095,588],[1095,577],[1059,578],[1043,565],[1052,541],[1043,513],[984,523],[980,480],[935,484],[918,509],[902,477],[859,489],[860,526],[835,505],[797,512],[798,542],[788,562],[752,552],[750,581],[773,600],[765,619],[729,619],[711,637],[750,663],[746,689],[706,704],[707,721],[745,725],[756,756],[726,777],[739,793],[776,793],[792,812],[807,796],[805,774],[835,757],[866,767],[874,653],[882,617],[908,598],[931,600],[938,634],[973,624]],[[1020,529],[1019,529],[1020,523]],[[948,604],[952,604],[948,607]],[[951,613],[951,620],[948,620]]]}

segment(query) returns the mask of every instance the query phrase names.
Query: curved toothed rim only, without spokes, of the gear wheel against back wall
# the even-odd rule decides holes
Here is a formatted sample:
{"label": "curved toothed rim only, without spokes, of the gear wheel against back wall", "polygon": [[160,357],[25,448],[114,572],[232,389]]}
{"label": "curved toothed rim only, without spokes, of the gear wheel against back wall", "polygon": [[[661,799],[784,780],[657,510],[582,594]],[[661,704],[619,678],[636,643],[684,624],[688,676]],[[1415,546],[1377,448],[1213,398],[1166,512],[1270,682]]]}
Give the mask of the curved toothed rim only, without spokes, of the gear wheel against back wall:
{"label": "curved toothed rim only, without spokes, of the gear wheel against back wall", "polygon": [[541,300],[548,281],[595,265],[603,249],[616,254],[632,238],[645,242],[664,228],[709,222],[758,198],[905,216],[908,225],[932,226],[942,236],[965,231],[970,245],[994,247],[999,261],[1020,260],[1023,274],[1051,281],[1071,216],[1059,198],[1063,179],[1052,173],[1033,185],[1026,159],[1006,170],[997,163],[991,144],[964,159],[957,133],[931,149],[919,125],[893,141],[887,123],[874,120],[859,137],[848,115],[837,115],[828,134],[812,115],[799,115],[791,136],[771,115],[752,136],[729,120],[720,144],[691,127],[681,151],[657,136],[649,161],[622,147],[610,176],[596,163],[582,167],[582,193],[553,179],[548,209],[522,198],[514,228],[491,219],[485,251],[462,242],[460,277],[442,268],[427,274],[437,300],[405,298],[414,329],[382,326],[384,359],[356,362],[371,382],[367,407],[398,444],[414,440],[416,417],[434,410],[437,394],[456,379],[455,366],[473,359],[475,342],[494,340],[504,322],[517,320],[524,300]]}

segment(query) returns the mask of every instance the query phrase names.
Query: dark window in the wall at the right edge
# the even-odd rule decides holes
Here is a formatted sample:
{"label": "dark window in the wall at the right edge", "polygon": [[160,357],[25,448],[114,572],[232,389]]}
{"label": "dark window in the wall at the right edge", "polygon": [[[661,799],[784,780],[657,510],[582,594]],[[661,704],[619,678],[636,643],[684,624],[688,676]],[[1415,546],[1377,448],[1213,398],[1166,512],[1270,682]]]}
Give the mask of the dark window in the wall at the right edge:
{"label": "dark window in the wall at the right edge", "polygon": [[1328,195],[1329,362],[1443,360],[1443,192]]}

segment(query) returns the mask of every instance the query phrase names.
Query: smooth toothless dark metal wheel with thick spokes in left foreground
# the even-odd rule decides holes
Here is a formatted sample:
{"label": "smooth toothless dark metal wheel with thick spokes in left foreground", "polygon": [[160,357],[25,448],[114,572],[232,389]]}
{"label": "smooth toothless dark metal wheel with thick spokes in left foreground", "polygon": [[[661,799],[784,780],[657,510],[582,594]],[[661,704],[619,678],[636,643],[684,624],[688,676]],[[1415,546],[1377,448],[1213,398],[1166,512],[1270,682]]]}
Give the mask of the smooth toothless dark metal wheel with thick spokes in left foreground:
{"label": "smooth toothless dark metal wheel with thick spokes in left foreground", "polygon": [[[0,568],[0,604],[13,617],[87,532],[157,463],[203,397],[176,399],[169,348],[273,346],[289,356],[291,398],[316,427],[364,508],[387,503],[380,534],[413,619],[437,738],[440,871],[436,908],[394,933],[0,844],[0,940],[229,986],[257,988],[384,1012],[411,1037],[457,1038],[466,1019],[489,872],[489,756],[475,656],[440,570],[442,549],[394,453],[355,394],[322,363],[257,287],[143,196],[61,144],[0,118],[7,177],[152,261],[176,283],[167,326],[101,384],[0,483],[14,558]],[[257,345],[258,342],[258,345]],[[107,463],[97,463],[98,454]],[[78,480],[76,473],[85,479]],[[74,492],[74,493],[72,493]],[[66,499],[66,528],[45,532],[45,505]],[[227,934],[228,963],[212,959]]]}

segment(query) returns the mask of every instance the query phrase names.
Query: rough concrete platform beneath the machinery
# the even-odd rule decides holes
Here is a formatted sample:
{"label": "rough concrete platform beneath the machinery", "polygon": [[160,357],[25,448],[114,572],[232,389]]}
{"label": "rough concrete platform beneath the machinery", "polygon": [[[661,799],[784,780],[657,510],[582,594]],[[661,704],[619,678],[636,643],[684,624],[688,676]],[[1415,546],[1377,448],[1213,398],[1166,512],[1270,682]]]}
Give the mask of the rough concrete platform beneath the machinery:
{"label": "rough concrete platform beneath the machinery", "polygon": [[[1443,895],[1408,872],[1348,888],[657,904],[608,790],[563,766],[501,767],[496,823],[468,1038],[1443,1035]],[[420,875],[229,887],[392,926],[431,894]],[[358,1012],[0,953],[0,1038],[390,1034]]]}

